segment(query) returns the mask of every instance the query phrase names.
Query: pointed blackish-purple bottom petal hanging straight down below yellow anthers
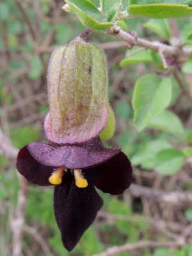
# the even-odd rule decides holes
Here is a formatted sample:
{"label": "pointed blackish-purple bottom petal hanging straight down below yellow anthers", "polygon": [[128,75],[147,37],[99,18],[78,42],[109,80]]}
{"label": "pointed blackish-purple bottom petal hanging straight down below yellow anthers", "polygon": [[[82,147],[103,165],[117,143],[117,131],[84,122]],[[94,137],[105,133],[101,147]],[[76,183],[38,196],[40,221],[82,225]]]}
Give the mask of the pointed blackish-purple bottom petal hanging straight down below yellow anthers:
{"label": "pointed blackish-purple bottom petal hanging straight down below yellow anthers", "polygon": [[76,246],[85,230],[92,225],[102,204],[90,182],[87,188],[77,188],[70,173],[65,175],[63,184],[55,186],[54,213],[63,245],[68,251]]}

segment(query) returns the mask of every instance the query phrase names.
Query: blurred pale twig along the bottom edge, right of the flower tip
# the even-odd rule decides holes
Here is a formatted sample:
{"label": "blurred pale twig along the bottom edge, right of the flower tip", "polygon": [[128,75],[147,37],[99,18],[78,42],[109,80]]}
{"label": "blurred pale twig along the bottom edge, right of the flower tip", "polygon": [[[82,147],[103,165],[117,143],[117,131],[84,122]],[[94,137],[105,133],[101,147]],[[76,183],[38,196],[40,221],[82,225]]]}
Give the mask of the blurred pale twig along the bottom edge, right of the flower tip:
{"label": "blurred pale twig along the bottom edge, right of the flower tip", "polygon": [[169,242],[156,242],[156,241],[139,241],[135,244],[124,244],[122,246],[113,246],[102,252],[100,254],[95,254],[93,256],[111,256],[116,255],[116,253],[122,252],[132,252],[134,250],[141,250],[145,248],[158,248],[158,247],[168,247],[168,248],[177,248],[184,245],[182,241],[169,241]]}

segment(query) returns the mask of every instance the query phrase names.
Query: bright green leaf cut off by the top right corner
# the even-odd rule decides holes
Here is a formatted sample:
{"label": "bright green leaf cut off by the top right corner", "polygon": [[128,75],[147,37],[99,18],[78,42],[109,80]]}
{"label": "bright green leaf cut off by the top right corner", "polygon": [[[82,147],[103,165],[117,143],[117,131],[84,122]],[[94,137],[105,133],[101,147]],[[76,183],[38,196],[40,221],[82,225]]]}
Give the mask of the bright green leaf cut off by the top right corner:
{"label": "bright green leaf cut off by the top right corner", "polygon": [[189,0],[129,0],[129,15],[155,19],[192,15]]}

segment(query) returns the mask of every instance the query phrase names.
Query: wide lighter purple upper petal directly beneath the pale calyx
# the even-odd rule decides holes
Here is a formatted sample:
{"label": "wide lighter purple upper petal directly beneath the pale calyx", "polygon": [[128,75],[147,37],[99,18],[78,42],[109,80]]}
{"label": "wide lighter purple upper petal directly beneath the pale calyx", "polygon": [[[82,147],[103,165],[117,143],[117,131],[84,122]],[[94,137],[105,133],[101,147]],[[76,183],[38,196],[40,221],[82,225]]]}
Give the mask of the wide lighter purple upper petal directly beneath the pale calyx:
{"label": "wide lighter purple upper petal directly beneath the pale calyx", "polygon": [[47,166],[65,166],[68,169],[88,168],[107,161],[120,152],[116,149],[105,149],[99,142],[84,145],[51,146],[32,142],[28,145],[31,155],[41,164]]}

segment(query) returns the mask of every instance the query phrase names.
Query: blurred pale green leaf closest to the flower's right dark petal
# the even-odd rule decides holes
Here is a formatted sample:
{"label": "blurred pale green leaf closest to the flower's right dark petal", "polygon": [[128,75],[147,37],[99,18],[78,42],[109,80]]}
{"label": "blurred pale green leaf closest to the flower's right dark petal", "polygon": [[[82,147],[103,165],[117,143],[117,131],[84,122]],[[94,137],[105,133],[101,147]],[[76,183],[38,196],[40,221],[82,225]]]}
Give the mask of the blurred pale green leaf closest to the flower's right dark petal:
{"label": "blurred pale green leaf closest to the flower's right dark petal", "polygon": [[167,148],[172,148],[172,146],[165,140],[158,139],[143,143],[140,150],[132,156],[131,163],[134,165],[141,164],[143,169],[152,169],[156,166],[156,154]]}

